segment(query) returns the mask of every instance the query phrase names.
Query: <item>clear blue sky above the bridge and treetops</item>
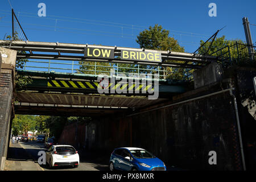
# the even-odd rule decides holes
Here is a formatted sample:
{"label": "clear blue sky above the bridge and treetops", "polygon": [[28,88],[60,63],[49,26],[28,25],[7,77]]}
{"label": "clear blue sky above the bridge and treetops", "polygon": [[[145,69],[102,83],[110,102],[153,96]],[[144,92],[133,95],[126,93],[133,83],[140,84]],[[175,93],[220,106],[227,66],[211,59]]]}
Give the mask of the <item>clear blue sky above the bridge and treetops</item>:
{"label": "clear blue sky above the bridge and treetops", "polygon": [[[160,24],[170,30],[186,52],[193,52],[200,40],[218,36],[245,40],[243,16],[256,24],[256,1],[48,1],[9,0],[28,39],[39,42],[101,44],[139,47],[139,32]],[[46,17],[38,16],[38,4],[46,4]],[[209,3],[216,3],[217,16],[210,17]],[[11,33],[11,8],[1,0],[0,39]],[[256,42],[256,26],[251,26]]]}

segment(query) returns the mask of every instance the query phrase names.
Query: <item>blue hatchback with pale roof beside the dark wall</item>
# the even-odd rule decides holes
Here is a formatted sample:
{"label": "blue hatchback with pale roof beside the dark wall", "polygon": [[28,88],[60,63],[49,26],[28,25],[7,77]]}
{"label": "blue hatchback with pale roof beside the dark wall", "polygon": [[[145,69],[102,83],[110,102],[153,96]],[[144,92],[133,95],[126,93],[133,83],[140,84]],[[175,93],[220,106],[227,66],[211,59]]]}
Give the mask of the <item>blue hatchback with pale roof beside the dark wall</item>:
{"label": "blue hatchback with pale roof beside the dark wall", "polygon": [[166,171],[166,165],[143,148],[115,148],[109,160],[110,171]]}

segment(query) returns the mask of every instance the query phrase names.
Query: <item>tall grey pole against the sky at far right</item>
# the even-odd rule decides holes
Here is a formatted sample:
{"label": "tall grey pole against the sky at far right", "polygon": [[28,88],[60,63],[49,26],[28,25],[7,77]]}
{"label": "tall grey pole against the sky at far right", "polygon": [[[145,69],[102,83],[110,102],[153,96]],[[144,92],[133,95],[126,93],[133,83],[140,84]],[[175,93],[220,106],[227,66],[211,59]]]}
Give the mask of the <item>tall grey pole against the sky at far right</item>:
{"label": "tall grey pole against the sky at far right", "polygon": [[245,28],[245,38],[247,43],[247,48],[249,52],[250,59],[253,60],[253,39],[251,39],[250,23],[247,17],[243,17],[243,28]]}

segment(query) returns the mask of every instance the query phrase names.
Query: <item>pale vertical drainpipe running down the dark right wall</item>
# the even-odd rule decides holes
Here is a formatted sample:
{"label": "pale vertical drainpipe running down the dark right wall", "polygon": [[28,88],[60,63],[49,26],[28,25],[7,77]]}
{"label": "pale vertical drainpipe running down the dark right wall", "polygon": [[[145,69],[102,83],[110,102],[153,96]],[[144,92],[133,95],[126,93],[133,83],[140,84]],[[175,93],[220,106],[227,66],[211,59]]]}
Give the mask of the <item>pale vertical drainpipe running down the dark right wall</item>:
{"label": "pale vertical drainpipe running down the dark right wall", "polygon": [[242,143],[242,134],[241,134],[241,127],[240,127],[240,119],[238,115],[238,109],[237,109],[237,99],[236,96],[234,96],[233,91],[234,89],[231,88],[229,90],[230,96],[233,97],[234,99],[234,107],[236,111],[236,119],[237,119],[237,129],[238,129],[238,137],[239,137],[239,142],[240,142],[240,150],[241,150],[241,157],[242,157],[242,163],[243,163],[243,170],[246,171],[246,166],[245,166],[245,155],[243,154],[243,143]]}

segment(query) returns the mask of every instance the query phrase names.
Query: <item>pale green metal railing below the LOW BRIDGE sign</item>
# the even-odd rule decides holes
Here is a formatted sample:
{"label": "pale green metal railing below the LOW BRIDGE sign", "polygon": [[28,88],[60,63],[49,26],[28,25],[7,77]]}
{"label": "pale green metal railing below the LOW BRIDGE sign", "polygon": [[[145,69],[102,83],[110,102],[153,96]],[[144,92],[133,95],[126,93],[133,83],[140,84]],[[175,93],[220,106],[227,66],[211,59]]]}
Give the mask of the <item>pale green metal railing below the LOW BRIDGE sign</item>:
{"label": "pale green metal railing below the LOW BRIDGE sign", "polygon": [[[110,75],[114,74],[120,76],[121,73],[125,76],[129,76],[131,73],[135,77],[152,77],[154,78],[155,74],[159,79],[172,79],[172,80],[181,80],[189,81],[193,79],[192,73],[189,72],[191,69],[181,70],[175,68],[175,71],[167,71],[166,68],[160,66],[147,66],[147,65],[129,65],[129,64],[111,64],[111,63],[96,63],[96,62],[87,62],[81,63],[81,61],[58,61],[58,60],[27,60],[24,63],[23,68],[18,70],[23,71],[40,71],[46,73],[52,72],[64,72],[64,73],[82,73],[86,75],[98,76],[101,74]],[[179,75],[179,76],[177,76]],[[182,76],[180,76],[182,75]]]}

